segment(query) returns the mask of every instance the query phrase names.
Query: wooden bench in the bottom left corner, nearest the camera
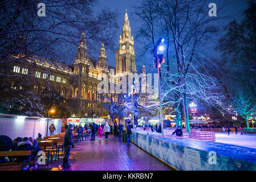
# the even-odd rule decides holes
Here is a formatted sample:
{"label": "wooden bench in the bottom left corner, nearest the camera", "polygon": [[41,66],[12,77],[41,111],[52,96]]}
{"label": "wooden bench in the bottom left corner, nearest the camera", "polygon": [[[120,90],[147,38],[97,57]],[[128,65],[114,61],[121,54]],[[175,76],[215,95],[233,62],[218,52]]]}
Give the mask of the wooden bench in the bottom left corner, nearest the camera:
{"label": "wooden bench in the bottom left corner, nearest the camera", "polygon": [[[31,156],[31,150],[24,151],[0,151],[0,157],[13,157],[17,158],[18,156]],[[29,160],[24,162],[4,162],[0,163],[0,171],[24,171],[29,170],[31,167],[30,163],[31,157]],[[26,168],[26,165],[28,166]]]}

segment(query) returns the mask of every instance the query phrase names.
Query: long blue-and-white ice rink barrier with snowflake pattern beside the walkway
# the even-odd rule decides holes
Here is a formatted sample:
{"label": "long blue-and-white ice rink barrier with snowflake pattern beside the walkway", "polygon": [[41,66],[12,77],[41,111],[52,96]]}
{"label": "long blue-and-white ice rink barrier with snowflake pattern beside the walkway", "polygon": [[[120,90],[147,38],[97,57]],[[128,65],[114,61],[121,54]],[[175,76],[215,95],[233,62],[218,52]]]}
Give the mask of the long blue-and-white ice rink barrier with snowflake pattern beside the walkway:
{"label": "long blue-and-white ice rink barrier with snowflake pattern beside the walkway", "polygon": [[132,130],[131,141],[182,171],[256,171],[256,149]]}

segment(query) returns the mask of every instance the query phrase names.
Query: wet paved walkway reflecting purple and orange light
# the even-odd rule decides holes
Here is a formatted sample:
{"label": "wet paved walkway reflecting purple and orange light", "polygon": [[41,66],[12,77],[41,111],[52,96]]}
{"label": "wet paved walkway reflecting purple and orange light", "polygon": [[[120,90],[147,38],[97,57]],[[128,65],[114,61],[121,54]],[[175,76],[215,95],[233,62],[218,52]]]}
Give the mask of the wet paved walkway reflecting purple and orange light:
{"label": "wet paved walkway reflecting purple and orange light", "polygon": [[[104,138],[104,136],[103,136]],[[91,141],[91,136],[79,142],[72,151],[69,163],[71,168],[62,169],[63,157],[59,161],[40,167],[41,170],[75,170],[75,171],[169,171],[164,163],[139,147],[127,146],[121,138],[109,135],[108,140]]]}

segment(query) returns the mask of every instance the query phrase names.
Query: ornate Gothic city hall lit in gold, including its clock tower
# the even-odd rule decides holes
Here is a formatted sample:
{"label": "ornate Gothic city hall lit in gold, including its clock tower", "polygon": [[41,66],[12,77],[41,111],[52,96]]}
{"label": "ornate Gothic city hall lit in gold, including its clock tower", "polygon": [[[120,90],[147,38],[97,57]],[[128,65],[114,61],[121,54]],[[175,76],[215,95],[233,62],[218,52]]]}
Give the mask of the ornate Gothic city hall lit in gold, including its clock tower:
{"label": "ornate Gothic city hall lit in gold, including its clock tower", "polygon": [[[36,93],[41,101],[48,102],[44,105],[45,116],[47,110],[54,107],[56,113],[52,117],[55,118],[107,117],[108,113],[104,109],[104,102],[107,100],[97,93],[97,84],[101,81],[97,78],[98,75],[105,73],[110,81],[111,69],[114,69],[115,75],[118,76],[137,73],[134,42],[127,12],[124,16],[122,34],[119,37],[119,48],[116,49],[116,68],[108,65],[106,61],[104,43],[101,43],[98,60],[88,56],[87,48],[85,35],[82,32],[73,64],[41,60],[36,56],[29,59],[22,54],[10,57],[22,61],[7,63],[4,69],[1,69],[0,103],[3,104],[19,94],[31,91]],[[145,67],[143,72],[145,73]],[[49,96],[50,94],[52,97]],[[113,100],[117,102],[117,99],[115,94]]]}

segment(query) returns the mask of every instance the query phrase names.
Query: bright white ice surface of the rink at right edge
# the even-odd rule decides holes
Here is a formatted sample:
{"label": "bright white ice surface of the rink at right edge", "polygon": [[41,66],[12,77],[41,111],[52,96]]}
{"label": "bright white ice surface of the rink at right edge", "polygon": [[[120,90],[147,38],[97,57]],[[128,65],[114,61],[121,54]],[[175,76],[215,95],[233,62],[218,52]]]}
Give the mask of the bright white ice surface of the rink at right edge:
{"label": "bright white ice surface of the rink at right edge", "polygon": [[256,148],[256,135],[241,135],[240,133],[215,133],[216,142],[234,144],[236,146]]}

